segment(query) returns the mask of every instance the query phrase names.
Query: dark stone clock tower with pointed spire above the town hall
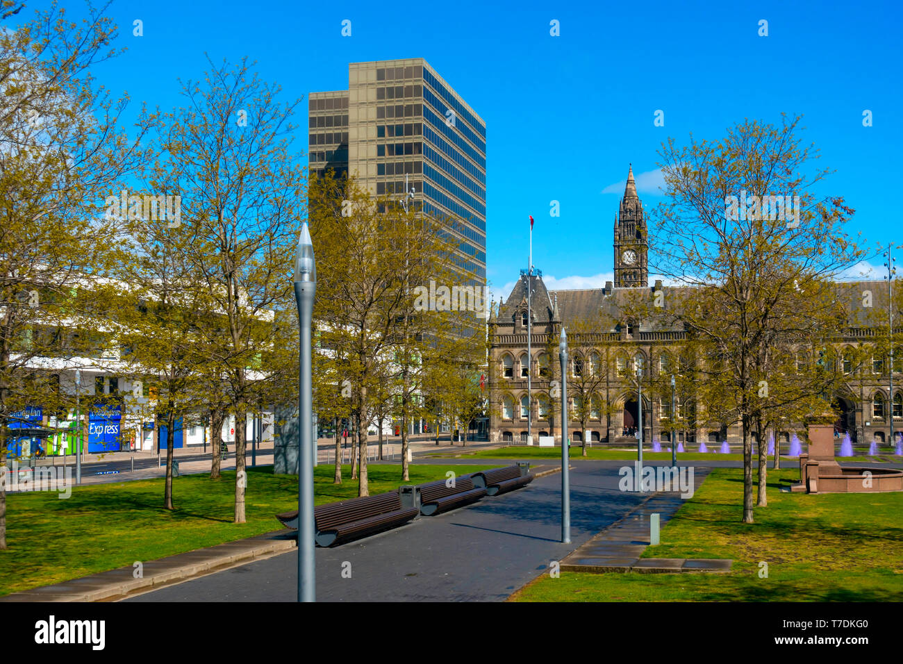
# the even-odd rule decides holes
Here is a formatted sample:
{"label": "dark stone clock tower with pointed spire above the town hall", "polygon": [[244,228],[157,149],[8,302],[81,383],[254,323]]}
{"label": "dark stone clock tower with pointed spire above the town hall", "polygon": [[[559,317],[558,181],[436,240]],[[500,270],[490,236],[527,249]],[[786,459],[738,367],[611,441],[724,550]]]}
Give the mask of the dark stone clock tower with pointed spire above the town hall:
{"label": "dark stone clock tower with pointed spire above the town hall", "polygon": [[648,285],[648,248],[643,203],[637,195],[631,164],[624,198],[615,217],[615,288]]}

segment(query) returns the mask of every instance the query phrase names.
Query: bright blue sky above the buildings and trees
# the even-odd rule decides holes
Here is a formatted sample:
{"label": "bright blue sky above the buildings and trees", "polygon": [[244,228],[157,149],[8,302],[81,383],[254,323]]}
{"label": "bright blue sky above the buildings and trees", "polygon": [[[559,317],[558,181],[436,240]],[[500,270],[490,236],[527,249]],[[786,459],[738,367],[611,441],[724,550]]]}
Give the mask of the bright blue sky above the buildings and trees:
{"label": "bright blue sky above the buildings and trees", "polygon": [[[79,16],[80,0],[62,5]],[[178,105],[177,79],[200,78],[205,52],[256,60],[286,99],[347,88],[352,61],[424,57],[486,120],[488,279],[505,296],[526,268],[528,214],[534,264],[551,287],[601,285],[612,278],[612,220],[628,163],[649,208],[660,200],[656,151],[668,136],[717,139],[745,117],[804,114],[818,164],[836,169],[824,191],[856,210],[848,230],[869,248],[903,239],[899,3],[393,6],[116,0],[109,15],[128,51],[94,73],[114,93],[127,91],[137,112],[143,101]],[[133,35],[135,19],[144,36]],[[350,37],[340,33],[345,19]],[[552,20],[560,36],[550,35]],[[653,124],[658,109],[665,126]],[[865,109],[873,126],[862,126]],[[551,201],[560,217],[549,215]]]}

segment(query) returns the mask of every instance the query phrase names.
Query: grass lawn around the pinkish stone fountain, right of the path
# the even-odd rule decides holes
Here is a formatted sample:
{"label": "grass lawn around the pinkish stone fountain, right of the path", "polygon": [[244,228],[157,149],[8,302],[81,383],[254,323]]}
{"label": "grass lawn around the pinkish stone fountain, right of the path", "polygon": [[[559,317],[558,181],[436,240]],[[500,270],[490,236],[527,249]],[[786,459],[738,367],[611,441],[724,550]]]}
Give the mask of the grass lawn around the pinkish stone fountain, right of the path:
{"label": "grass lawn around the pinkish stone fountain, right of the path", "polygon": [[[729,574],[577,574],[541,577],[525,602],[899,602],[903,493],[778,491],[795,470],[768,474],[768,507],[740,523],[740,469],[718,468],[662,528],[643,557],[731,558]],[[768,576],[759,577],[768,564]]]}

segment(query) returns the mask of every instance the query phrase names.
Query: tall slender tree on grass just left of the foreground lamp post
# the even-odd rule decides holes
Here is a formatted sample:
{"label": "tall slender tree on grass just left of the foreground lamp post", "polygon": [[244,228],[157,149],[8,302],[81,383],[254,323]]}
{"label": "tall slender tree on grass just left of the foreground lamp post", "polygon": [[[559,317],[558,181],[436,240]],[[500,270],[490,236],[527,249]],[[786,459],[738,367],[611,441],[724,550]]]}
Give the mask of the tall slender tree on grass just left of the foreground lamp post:
{"label": "tall slender tree on grass just left of the foreground lamp post", "polygon": [[235,522],[244,523],[246,414],[265,381],[286,371],[265,366],[264,353],[278,338],[274,310],[292,303],[305,185],[290,152],[300,100],[277,102],[279,87],[261,81],[247,60],[210,66],[203,85],[183,85],[184,108],[149,119],[161,154],[151,185],[181,195],[174,231],[189,237],[183,260],[223,318],[225,333],[205,343],[236,416]]}

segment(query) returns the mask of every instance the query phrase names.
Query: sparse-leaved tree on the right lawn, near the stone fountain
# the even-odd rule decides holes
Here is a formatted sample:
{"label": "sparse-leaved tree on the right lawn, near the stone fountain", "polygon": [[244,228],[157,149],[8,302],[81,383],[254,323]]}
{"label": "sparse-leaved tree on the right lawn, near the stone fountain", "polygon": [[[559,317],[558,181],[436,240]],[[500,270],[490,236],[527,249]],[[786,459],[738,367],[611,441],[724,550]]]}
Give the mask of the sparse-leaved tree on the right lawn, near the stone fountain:
{"label": "sparse-leaved tree on the right lawn, near the stone fountain", "polygon": [[[771,378],[768,346],[787,335],[787,313],[805,333],[837,330],[835,291],[824,284],[862,257],[842,231],[852,214],[842,197],[816,200],[814,185],[827,172],[804,173],[816,153],[800,144],[798,121],[744,121],[718,142],[691,137],[678,147],[672,138],[659,153],[668,200],[652,242],[656,267],[688,286],[665,312],[707,348],[715,379],[697,386],[706,410],[740,423],[746,523],[753,520],[749,432],[761,381]],[[807,285],[805,296],[796,290]]]}

